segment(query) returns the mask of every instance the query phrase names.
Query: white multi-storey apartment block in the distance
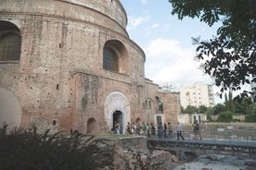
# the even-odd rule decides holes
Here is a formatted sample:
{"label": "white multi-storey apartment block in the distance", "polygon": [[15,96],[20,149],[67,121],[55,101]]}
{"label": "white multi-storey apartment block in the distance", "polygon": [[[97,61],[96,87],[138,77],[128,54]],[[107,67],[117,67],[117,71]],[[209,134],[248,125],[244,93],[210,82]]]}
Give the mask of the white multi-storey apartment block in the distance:
{"label": "white multi-storey apartment block in the distance", "polygon": [[186,108],[188,105],[207,107],[214,105],[214,95],[212,86],[201,82],[195,83],[193,86],[180,87],[181,105]]}

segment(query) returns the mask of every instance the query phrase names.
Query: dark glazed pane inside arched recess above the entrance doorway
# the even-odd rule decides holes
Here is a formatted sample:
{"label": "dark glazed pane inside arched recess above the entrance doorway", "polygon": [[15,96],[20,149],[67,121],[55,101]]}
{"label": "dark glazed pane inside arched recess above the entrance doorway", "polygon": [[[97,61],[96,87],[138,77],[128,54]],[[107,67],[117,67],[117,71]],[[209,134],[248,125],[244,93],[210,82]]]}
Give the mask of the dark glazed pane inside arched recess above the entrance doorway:
{"label": "dark glazed pane inside arched recess above the entrance doorway", "polygon": [[109,48],[104,47],[103,51],[103,68],[108,69],[110,71],[118,72],[118,55],[116,52]]}

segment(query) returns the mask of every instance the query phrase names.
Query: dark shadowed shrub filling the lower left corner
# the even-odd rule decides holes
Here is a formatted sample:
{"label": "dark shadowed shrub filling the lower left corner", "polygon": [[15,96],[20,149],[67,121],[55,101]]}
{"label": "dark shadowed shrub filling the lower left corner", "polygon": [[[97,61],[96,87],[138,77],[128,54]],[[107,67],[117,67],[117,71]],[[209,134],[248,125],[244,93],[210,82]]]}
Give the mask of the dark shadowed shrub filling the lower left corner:
{"label": "dark shadowed shrub filling the lower left corner", "polygon": [[[49,135],[32,130],[0,128],[1,170],[83,170],[111,167],[112,155],[102,152],[94,136],[78,131]],[[100,156],[101,157],[100,157]],[[102,158],[102,157],[105,157]],[[106,159],[107,158],[107,159]]]}

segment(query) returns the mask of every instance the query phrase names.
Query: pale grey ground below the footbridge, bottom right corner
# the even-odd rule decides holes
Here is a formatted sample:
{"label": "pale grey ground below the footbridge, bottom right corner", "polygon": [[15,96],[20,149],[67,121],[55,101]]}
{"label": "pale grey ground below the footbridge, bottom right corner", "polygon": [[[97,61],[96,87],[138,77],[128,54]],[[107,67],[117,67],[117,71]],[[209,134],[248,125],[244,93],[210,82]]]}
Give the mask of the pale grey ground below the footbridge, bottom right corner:
{"label": "pale grey ground below the footbridge, bottom right corner", "polygon": [[203,155],[173,170],[256,170],[256,160],[247,156]]}

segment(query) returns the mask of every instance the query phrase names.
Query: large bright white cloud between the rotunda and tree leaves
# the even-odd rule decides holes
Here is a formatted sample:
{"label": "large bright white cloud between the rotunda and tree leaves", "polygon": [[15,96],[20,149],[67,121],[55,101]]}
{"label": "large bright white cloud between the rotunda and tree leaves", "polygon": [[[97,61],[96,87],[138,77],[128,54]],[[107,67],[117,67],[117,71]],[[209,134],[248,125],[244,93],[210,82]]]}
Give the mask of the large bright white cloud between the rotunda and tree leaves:
{"label": "large bright white cloud between the rotunda and tree leaves", "polygon": [[182,47],[173,40],[156,39],[146,49],[146,76],[156,82],[172,82],[186,85],[195,82],[210,82],[203,76],[199,63],[194,61],[194,48]]}

